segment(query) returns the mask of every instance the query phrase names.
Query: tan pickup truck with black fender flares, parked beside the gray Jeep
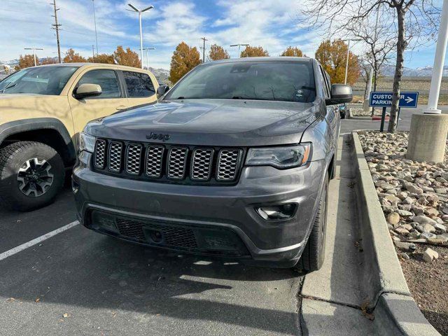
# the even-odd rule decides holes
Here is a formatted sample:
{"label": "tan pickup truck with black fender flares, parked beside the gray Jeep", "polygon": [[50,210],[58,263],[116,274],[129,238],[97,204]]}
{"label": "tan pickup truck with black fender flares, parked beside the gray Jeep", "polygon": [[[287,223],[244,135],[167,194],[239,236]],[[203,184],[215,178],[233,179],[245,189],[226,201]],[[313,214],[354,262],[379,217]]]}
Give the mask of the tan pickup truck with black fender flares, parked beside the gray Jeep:
{"label": "tan pickup truck with black fender flares, parked beside the gray Jeep", "polygon": [[34,66],[4,78],[0,205],[27,211],[52,202],[88,121],[154,103],[167,90],[150,71],[113,64]]}

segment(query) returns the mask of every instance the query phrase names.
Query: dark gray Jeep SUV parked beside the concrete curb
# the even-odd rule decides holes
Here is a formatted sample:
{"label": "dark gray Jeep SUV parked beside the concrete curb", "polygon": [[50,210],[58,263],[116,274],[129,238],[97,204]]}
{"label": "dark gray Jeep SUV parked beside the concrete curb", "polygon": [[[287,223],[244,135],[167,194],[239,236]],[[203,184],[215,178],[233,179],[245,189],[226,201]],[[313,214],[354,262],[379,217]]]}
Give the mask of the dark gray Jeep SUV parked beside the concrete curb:
{"label": "dark gray Jeep SUV parked beside the concrete curb", "polygon": [[79,221],[146,246],[321,267],[332,105],[351,88],[330,85],[315,59],[253,57],[201,64],[159,93],[80,134]]}

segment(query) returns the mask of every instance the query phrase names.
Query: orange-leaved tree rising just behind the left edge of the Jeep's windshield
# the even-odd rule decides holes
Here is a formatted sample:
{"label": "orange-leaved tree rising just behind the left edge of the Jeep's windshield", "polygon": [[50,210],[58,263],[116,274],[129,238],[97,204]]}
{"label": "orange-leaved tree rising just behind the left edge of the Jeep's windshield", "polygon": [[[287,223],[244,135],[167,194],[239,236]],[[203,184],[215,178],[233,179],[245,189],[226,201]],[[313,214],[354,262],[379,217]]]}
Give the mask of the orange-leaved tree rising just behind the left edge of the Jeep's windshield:
{"label": "orange-leaved tree rising just behind the left edge of the Jeep's windshield", "polygon": [[173,84],[176,83],[200,62],[200,54],[196,47],[192,48],[185,42],[179,43],[171,57],[169,80]]}

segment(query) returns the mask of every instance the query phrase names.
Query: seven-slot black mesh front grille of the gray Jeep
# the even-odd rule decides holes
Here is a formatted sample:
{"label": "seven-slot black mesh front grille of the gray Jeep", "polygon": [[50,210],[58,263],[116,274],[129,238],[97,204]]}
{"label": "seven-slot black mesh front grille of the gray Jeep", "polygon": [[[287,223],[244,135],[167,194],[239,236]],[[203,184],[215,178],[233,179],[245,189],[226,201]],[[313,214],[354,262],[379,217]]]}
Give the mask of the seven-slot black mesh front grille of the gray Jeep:
{"label": "seven-slot black mesh front grille of the gray Jeep", "polygon": [[169,183],[235,183],[244,150],[97,139],[94,168],[124,178]]}

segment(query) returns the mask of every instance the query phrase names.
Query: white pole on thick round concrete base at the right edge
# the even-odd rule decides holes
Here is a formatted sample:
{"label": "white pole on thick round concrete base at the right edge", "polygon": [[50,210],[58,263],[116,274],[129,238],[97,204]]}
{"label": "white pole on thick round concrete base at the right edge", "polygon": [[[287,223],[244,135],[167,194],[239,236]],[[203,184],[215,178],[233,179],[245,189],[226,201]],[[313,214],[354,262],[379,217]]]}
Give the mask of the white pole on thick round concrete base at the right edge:
{"label": "white pole on thick round concrete base at the right edge", "polygon": [[433,76],[428,106],[423,113],[414,113],[407,145],[406,158],[414,161],[443,162],[448,135],[448,115],[437,109],[445,53],[448,44],[448,0],[443,1],[439,35],[435,47]]}

